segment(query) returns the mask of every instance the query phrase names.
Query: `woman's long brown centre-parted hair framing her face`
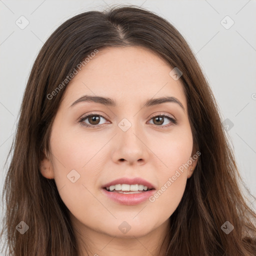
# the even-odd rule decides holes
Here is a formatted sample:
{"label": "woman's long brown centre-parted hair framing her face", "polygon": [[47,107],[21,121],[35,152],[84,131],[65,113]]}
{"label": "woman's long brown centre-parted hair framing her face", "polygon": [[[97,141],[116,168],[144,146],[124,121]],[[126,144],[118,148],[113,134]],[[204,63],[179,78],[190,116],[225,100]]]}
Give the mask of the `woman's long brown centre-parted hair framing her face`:
{"label": "woman's long brown centre-parted hair framing her face", "polygon": [[[40,161],[50,155],[51,125],[67,75],[95,49],[132,45],[153,50],[182,71],[193,141],[201,152],[169,218],[165,255],[255,255],[256,214],[240,190],[241,178],[210,87],[182,35],[164,18],[137,6],[78,14],[62,23],[38,53],[23,95],[3,190],[2,234],[6,231],[10,255],[78,255],[69,211],[54,179],[41,175]],[[16,230],[20,221],[29,227],[24,234]],[[221,228],[226,221],[234,226],[228,234]]]}

